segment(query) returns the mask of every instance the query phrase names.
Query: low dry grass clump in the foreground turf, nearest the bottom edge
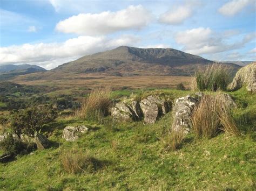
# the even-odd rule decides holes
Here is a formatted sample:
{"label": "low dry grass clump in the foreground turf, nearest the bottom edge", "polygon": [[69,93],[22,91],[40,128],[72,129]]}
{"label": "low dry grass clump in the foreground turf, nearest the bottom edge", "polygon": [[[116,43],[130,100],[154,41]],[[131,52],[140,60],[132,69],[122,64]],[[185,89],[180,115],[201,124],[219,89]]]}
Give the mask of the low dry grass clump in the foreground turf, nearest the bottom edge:
{"label": "low dry grass clump in the foreground turf, nearest the bottom edge", "polygon": [[65,171],[72,174],[92,172],[98,167],[97,159],[91,157],[89,152],[82,150],[62,151],[60,160]]}

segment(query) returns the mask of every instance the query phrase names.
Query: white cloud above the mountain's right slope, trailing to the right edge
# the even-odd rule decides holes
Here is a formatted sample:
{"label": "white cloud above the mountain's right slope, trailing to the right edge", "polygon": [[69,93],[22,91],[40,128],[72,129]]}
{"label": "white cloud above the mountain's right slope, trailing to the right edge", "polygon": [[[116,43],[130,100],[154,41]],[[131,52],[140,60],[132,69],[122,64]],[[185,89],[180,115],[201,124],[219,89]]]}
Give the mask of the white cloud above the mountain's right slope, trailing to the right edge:
{"label": "white cloud above the mountain's right slope, trailing to the right edge", "polygon": [[209,54],[225,52],[243,47],[255,39],[256,33],[246,34],[241,41],[228,44],[220,34],[213,32],[209,27],[199,27],[196,29],[181,31],[174,37],[178,44],[183,45],[183,49],[191,54]]}

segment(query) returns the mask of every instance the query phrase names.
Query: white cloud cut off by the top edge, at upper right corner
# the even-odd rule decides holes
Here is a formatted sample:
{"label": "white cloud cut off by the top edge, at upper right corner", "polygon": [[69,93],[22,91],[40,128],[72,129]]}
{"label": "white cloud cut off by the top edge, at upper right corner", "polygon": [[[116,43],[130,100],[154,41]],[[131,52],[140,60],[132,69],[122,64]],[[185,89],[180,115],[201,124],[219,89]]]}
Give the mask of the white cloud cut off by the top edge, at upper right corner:
{"label": "white cloud cut off by the top edge, at upper right corner", "polygon": [[232,0],[221,6],[218,11],[225,16],[234,16],[250,3],[254,3],[254,0]]}

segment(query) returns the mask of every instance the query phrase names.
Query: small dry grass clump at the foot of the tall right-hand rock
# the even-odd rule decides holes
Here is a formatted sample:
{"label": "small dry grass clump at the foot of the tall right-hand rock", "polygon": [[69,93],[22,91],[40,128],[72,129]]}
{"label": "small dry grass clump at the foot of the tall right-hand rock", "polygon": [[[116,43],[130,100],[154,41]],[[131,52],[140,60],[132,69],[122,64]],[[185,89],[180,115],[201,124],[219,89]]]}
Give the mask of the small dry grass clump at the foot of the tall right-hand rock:
{"label": "small dry grass clump at the foot of the tall right-hand rock", "polygon": [[166,150],[176,151],[184,143],[185,137],[184,130],[172,130],[165,139],[162,139],[162,142]]}

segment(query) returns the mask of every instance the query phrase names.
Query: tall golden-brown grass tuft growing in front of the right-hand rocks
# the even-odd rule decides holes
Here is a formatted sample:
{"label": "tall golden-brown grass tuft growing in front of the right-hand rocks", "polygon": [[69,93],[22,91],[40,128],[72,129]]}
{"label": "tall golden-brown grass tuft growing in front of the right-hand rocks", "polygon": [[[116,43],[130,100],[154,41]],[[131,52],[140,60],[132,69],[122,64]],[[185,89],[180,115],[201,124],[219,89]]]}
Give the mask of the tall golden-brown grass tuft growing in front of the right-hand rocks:
{"label": "tall golden-brown grass tuft growing in front of the right-hand rocks", "polygon": [[212,138],[220,127],[219,100],[205,95],[193,111],[191,121],[196,137]]}

